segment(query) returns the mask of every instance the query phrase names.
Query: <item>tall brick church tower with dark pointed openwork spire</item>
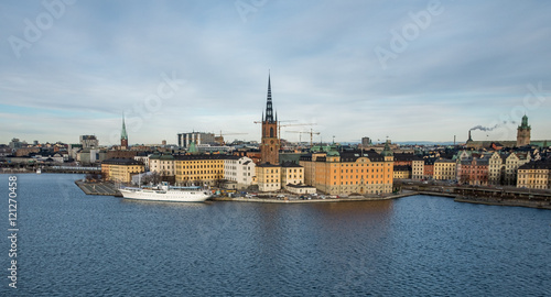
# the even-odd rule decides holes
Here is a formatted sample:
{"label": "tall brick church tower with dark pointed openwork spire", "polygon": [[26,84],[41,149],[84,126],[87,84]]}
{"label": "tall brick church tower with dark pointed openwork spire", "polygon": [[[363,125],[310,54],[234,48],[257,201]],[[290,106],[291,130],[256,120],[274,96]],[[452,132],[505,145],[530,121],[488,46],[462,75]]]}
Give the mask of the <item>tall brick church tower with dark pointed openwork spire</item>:
{"label": "tall brick church tower with dark pointed openwork spire", "polygon": [[266,102],[266,117],[262,114],[262,143],[260,146],[261,162],[279,164],[280,141],[278,138],[278,116],[273,117],[272,89],[270,75],[268,75],[268,99]]}

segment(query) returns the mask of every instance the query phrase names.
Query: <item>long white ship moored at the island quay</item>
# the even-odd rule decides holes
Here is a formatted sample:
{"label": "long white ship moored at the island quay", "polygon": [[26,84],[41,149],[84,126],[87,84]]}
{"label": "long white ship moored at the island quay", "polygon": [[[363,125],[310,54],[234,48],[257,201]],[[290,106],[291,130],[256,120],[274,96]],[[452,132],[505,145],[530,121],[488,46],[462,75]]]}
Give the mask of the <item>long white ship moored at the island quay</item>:
{"label": "long white ship moored at the island quay", "polygon": [[119,191],[128,199],[169,202],[203,202],[212,196],[210,191],[201,187],[170,187],[168,183],[152,188],[126,187]]}

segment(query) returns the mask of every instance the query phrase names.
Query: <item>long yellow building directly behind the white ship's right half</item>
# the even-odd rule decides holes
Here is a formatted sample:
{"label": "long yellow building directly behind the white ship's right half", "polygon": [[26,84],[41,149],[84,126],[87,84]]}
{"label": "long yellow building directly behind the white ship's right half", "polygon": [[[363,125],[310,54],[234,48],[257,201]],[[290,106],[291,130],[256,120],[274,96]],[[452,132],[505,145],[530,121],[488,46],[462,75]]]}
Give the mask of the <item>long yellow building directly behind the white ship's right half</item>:
{"label": "long yellow building directly behind the white ship's right half", "polygon": [[214,186],[224,178],[226,155],[176,155],[176,185]]}

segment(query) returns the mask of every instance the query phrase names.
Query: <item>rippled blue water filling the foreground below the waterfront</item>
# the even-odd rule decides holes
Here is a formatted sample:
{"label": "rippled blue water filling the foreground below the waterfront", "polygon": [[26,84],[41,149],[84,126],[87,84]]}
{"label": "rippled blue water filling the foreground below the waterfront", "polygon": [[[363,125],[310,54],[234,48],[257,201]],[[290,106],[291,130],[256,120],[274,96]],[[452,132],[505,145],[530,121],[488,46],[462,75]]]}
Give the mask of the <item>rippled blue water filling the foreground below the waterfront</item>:
{"label": "rippled blue water filling the foreground below the waterfront", "polygon": [[549,210],[129,201],[79,177],[18,175],[18,289],[3,237],[1,296],[551,296]]}

